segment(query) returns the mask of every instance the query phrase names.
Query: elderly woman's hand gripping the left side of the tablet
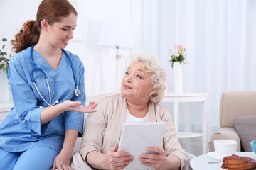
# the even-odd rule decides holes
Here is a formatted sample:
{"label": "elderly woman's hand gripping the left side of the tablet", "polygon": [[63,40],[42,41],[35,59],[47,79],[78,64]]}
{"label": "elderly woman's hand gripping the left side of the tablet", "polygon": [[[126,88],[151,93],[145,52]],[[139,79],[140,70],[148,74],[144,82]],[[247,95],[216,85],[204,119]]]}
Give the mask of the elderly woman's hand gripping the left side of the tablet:
{"label": "elderly woman's hand gripping the left side of the tablet", "polygon": [[107,169],[124,169],[134,157],[128,152],[117,152],[118,145],[110,147],[105,157],[105,166]]}

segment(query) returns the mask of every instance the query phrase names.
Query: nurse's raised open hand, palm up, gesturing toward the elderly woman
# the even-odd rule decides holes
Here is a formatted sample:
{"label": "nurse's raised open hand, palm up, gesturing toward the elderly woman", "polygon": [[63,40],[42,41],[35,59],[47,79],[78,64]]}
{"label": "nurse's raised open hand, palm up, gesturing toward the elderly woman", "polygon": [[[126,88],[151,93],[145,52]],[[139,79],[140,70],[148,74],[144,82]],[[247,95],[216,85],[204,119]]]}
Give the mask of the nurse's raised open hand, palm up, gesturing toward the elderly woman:
{"label": "nurse's raised open hand, palm up, gesturing toward the elderly woman", "polygon": [[92,113],[95,112],[95,107],[97,106],[97,103],[95,101],[92,101],[89,103],[88,106],[82,106],[82,102],[80,101],[64,101],[63,106],[65,107],[65,111],[76,111],[79,113]]}

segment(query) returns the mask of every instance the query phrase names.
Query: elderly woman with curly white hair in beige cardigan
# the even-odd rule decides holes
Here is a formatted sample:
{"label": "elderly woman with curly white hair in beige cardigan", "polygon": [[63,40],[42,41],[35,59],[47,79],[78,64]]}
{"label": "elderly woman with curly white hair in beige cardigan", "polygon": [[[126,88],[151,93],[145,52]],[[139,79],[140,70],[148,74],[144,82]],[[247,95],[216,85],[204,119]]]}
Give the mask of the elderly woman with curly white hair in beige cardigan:
{"label": "elderly woman with curly white hair in beige cardigan", "polygon": [[74,169],[124,169],[134,157],[117,152],[124,122],[166,122],[163,145],[149,148],[156,154],[142,154],[143,165],[152,169],[182,169],[187,156],[178,143],[171,115],[159,102],[164,96],[166,72],[156,57],[132,57],[122,79],[121,94],[108,96],[88,115],[80,153],[75,153]]}

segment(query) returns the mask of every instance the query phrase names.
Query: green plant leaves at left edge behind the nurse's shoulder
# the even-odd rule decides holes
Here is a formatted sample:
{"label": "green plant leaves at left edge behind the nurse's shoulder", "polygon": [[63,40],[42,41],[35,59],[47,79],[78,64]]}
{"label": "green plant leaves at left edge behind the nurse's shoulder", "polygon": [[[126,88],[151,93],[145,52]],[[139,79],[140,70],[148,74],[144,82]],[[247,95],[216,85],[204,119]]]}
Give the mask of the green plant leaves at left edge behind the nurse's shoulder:
{"label": "green plant leaves at left edge behind the nurse's shoulder", "polygon": [[[11,45],[7,43],[6,38],[1,39],[1,41],[4,42],[4,45],[2,45],[0,49],[0,72],[2,71],[7,73],[9,69],[9,62],[11,61],[11,57],[14,55],[14,50]],[[9,50],[6,50],[6,46],[9,47]]]}

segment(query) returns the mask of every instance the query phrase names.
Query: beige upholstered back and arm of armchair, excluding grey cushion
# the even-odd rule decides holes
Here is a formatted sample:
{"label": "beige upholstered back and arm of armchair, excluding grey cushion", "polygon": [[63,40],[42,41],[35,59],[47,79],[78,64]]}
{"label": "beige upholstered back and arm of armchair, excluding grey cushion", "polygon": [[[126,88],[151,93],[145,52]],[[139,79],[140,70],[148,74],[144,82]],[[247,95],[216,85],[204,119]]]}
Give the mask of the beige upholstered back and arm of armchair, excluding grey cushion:
{"label": "beige upholstered back and arm of armchair, excluding grey cushion", "polygon": [[220,129],[210,137],[209,152],[215,151],[213,141],[218,139],[235,140],[237,151],[241,151],[241,142],[235,130],[233,118],[256,115],[256,91],[227,91],[220,98]]}

